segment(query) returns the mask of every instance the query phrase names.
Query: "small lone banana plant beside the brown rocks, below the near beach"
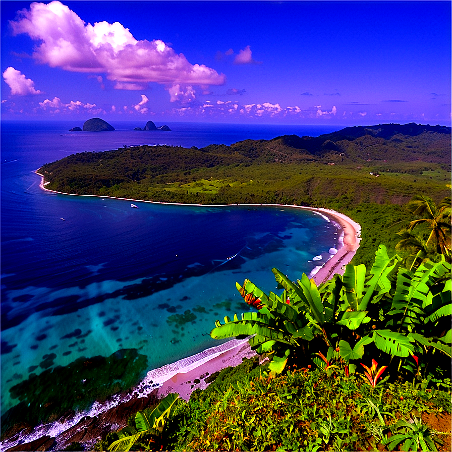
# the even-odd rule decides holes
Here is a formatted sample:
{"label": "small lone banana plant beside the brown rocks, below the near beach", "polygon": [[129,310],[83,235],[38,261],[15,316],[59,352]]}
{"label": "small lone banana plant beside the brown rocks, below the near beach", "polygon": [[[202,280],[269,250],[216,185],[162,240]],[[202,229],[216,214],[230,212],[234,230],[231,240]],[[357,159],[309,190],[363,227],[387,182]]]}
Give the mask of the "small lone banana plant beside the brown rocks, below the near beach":
{"label": "small lone banana plant beside the brown rocks, below the near beach", "polygon": [[166,419],[170,417],[179,394],[168,394],[152,411],[139,411],[135,415],[136,428],[128,426],[118,432],[120,439],[110,444],[108,450],[128,451],[137,442],[147,441],[146,450],[151,444],[161,442]]}

